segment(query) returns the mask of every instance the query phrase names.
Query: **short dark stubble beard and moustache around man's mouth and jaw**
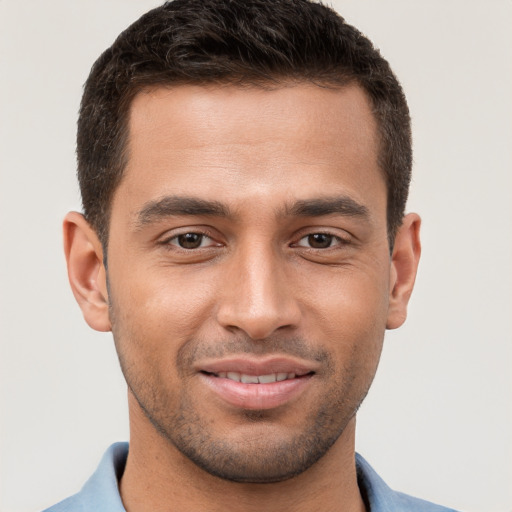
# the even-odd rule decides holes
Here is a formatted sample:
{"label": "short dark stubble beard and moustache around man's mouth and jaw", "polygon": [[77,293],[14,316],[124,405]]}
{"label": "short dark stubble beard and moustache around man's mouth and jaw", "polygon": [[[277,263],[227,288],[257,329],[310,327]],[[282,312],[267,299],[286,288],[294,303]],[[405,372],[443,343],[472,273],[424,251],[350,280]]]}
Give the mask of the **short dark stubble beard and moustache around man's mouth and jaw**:
{"label": "short dark stubble beard and moustache around man's mouth and jaw", "polygon": [[[201,408],[195,406],[194,397],[187,392],[187,386],[183,386],[179,397],[176,397],[169,390],[168,383],[158,378],[157,372],[146,372],[142,375],[137,370],[137,363],[128,360],[123,345],[130,344],[133,340],[141,343],[143,337],[135,336],[130,339],[128,332],[120,329],[118,322],[113,321],[115,317],[112,313],[111,309],[112,332],[121,370],[131,393],[154,429],[198,467],[231,482],[282,482],[309,469],[342,435],[365,398],[375,373],[367,372],[367,378],[362,383],[359,378],[362,369],[358,363],[354,363],[344,368],[340,375],[335,371],[334,362],[328,352],[313,352],[300,339],[276,339],[258,344],[243,339],[218,342],[213,346],[210,344],[207,349],[209,356],[221,357],[230,353],[288,353],[321,361],[324,369],[321,378],[326,383],[325,393],[322,394],[321,401],[317,401],[306,415],[300,432],[291,435],[286,432],[283,435],[286,429],[281,428],[278,435],[275,435],[273,411],[241,410],[238,423],[245,422],[247,429],[244,432],[250,433],[252,427],[257,435],[243,435],[242,439],[240,436],[232,439],[218,434],[215,426],[212,426],[212,420],[200,414]],[[201,351],[203,355],[203,347],[204,344],[197,340],[186,343],[183,350],[180,349],[175,362],[178,372],[183,367],[191,368],[197,352]]]}

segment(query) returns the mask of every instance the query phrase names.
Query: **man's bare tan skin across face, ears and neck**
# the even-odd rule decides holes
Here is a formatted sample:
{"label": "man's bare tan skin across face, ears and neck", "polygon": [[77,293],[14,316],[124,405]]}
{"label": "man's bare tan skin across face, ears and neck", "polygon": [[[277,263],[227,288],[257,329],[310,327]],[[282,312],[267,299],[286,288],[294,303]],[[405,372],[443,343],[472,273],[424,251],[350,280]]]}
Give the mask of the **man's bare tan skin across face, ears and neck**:
{"label": "man's bare tan skin across face, ears and neck", "polygon": [[[157,88],[136,96],[129,127],[108,286],[94,231],[77,213],[64,223],[75,297],[112,330],[128,383],[126,509],[364,510],[355,414],[420,254],[409,214],[390,256],[366,96]],[[233,357],[310,373],[277,406],[241,407],[202,371]]]}

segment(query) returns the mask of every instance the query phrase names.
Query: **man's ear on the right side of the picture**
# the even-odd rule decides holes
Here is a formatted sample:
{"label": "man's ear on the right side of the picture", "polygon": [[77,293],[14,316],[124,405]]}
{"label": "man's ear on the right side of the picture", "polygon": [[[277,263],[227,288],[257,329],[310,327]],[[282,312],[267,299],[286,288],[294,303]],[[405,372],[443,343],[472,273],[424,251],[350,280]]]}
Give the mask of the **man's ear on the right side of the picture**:
{"label": "man's ear on the right side of the picture", "polygon": [[391,256],[389,308],[386,328],[396,329],[407,318],[407,304],[411,297],[421,254],[421,219],[415,213],[404,217]]}

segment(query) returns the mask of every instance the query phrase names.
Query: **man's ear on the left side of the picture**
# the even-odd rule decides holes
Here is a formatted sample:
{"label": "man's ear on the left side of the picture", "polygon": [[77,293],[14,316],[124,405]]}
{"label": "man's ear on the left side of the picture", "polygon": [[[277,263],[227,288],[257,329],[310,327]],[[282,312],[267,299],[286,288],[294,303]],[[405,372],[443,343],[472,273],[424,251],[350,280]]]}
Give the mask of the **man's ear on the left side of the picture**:
{"label": "man's ear on the left side of the picture", "polygon": [[85,321],[97,331],[110,331],[107,276],[98,236],[77,212],[66,215],[63,232],[69,283]]}

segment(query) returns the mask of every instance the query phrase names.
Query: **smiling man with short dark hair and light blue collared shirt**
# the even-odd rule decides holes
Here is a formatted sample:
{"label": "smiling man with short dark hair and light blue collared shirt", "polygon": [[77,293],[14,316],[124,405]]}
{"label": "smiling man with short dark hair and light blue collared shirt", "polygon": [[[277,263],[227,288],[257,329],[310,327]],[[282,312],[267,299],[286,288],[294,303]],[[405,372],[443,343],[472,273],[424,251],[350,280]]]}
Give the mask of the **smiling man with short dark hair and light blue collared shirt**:
{"label": "smiling man with short dark hair and light blue collared shirt", "polygon": [[420,254],[387,62],[306,0],[176,0],[94,65],[74,295],[112,331],[130,446],[51,511],[440,511],[356,456]]}

